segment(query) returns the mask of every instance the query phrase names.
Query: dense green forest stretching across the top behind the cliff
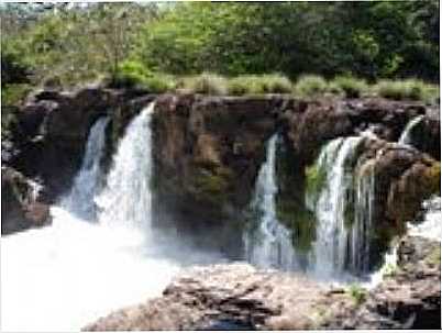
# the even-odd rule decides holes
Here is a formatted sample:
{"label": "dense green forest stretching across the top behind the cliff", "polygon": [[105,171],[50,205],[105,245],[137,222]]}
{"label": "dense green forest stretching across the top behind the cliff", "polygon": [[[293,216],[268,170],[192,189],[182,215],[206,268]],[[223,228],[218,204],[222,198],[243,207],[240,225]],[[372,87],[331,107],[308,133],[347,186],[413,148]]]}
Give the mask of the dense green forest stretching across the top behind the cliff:
{"label": "dense green forest stretching across the top behind the cliff", "polygon": [[[291,81],[318,75],[298,90],[325,90],[322,77],[340,76],[331,92],[413,78],[408,96],[420,97],[416,79],[439,80],[438,0],[7,3],[0,11],[3,106],[41,85],[99,80],[164,91],[198,86],[177,78],[201,73],[244,76],[229,82],[231,93],[259,86],[256,75],[270,86],[258,92],[291,92]],[[395,95],[404,85],[387,88]]]}

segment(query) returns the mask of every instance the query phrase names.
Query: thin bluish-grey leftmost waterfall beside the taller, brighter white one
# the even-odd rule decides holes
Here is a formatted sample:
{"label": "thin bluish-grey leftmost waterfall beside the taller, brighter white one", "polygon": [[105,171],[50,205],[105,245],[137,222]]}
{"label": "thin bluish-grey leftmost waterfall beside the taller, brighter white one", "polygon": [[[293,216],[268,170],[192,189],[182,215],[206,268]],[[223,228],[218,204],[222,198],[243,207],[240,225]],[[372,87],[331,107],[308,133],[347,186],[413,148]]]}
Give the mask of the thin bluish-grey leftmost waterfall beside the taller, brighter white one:
{"label": "thin bluish-grey leftmost waterfall beside the taller, brighter white one", "polygon": [[101,176],[100,163],[104,154],[108,122],[109,118],[100,118],[90,129],[80,170],[69,193],[60,202],[64,209],[85,220],[95,219],[93,198]]}

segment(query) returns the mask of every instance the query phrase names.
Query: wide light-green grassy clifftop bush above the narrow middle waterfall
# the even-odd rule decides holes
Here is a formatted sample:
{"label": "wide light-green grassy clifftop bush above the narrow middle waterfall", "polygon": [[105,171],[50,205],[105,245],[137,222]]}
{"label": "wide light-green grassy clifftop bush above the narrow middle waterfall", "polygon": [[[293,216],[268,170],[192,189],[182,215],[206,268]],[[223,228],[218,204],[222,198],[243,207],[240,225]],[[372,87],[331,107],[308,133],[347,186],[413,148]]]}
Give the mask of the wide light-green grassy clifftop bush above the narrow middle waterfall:
{"label": "wide light-green grassy clifftop bush above the narrow middle waterfall", "polygon": [[291,81],[283,75],[245,75],[232,78],[228,82],[230,95],[290,93]]}

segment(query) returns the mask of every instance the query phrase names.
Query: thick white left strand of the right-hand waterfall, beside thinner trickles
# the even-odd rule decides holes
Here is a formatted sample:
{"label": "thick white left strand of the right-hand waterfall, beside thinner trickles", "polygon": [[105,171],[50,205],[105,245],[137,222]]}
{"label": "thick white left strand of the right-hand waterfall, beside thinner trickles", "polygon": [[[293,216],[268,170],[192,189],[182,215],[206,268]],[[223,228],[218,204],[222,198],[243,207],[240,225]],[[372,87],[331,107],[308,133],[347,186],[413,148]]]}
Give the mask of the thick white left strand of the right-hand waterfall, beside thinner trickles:
{"label": "thick white left strand of the right-hand waterfall, beside thinner trickles", "polygon": [[362,136],[333,140],[323,147],[317,162],[318,169],[327,173],[314,202],[317,240],[310,270],[319,277],[340,275],[349,260],[352,233],[349,232],[346,213],[353,186],[353,170],[349,164],[363,140]]}

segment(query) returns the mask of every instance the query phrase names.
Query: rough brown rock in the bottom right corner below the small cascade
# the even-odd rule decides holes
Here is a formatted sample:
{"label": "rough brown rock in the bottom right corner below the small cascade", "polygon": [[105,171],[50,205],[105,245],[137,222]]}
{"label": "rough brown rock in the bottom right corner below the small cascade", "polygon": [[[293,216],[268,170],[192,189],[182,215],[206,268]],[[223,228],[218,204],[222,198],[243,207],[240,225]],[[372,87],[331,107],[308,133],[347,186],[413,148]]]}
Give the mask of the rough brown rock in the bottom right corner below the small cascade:
{"label": "rough brown rock in the bottom right corner below the small cascade", "polygon": [[406,236],[398,247],[397,271],[369,291],[358,308],[342,308],[327,329],[440,329],[440,242]]}

